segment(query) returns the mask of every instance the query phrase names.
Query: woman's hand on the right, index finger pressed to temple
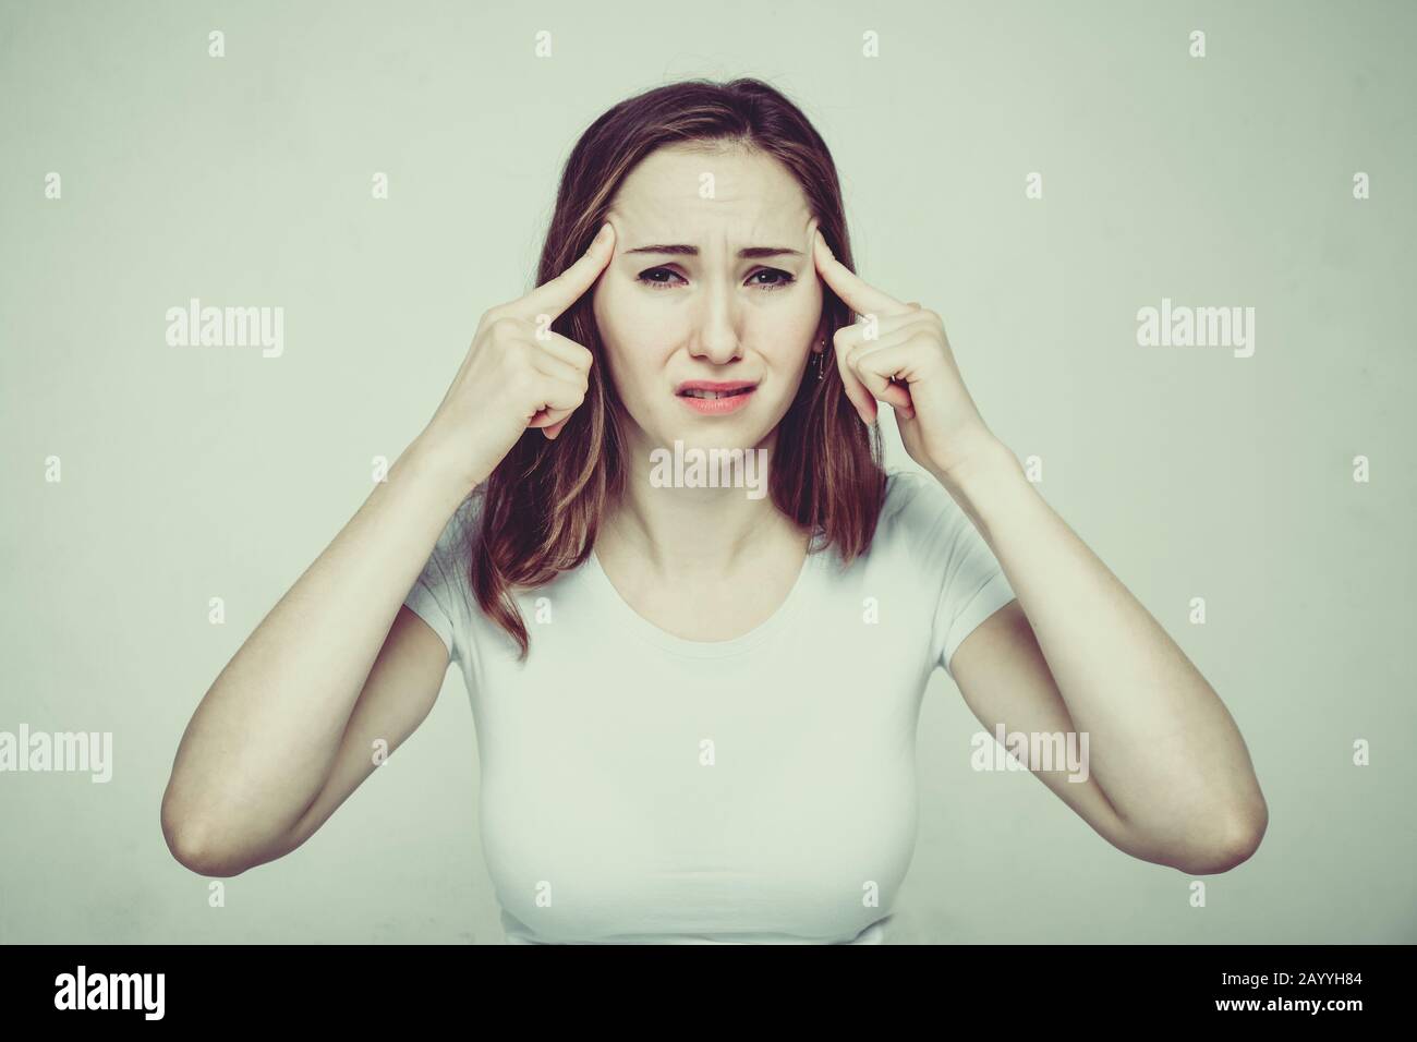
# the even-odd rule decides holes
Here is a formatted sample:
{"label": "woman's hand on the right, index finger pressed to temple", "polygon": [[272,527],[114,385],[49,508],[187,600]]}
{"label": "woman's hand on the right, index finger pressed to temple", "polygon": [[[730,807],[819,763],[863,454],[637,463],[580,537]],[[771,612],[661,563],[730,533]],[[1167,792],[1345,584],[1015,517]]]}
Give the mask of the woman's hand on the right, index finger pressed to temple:
{"label": "woman's hand on the right, index finger pressed to temple", "polygon": [[813,238],[822,281],[863,319],[832,340],[846,397],[862,421],[876,421],[877,400],[894,408],[910,458],[937,478],[996,444],[959,377],[944,319],[876,289],[836,259],[820,231]]}

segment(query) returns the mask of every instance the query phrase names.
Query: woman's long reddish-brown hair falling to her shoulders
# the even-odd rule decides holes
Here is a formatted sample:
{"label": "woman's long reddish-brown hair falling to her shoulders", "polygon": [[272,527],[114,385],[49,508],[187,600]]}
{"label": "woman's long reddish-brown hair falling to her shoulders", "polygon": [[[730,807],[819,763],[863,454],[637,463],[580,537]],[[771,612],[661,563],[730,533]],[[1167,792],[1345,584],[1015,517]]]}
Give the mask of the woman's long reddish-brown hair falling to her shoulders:
{"label": "woman's long reddish-brown hair falling to her shoulders", "polygon": [[[832,252],[854,271],[836,164],[801,109],[760,79],[689,79],[619,102],[581,135],[561,173],[537,285],[589,248],[615,193],[642,159],[666,145],[694,142],[741,145],[782,162]],[[818,380],[808,367],[778,425],[769,491],[784,515],[820,530],[818,546],[835,546],[849,563],[876,533],[886,474],[880,432],[857,417],[832,357],[832,336],[853,322],[852,312],[825,285],[823,295],[826,374]],[[472,588],[482,611],[517,642],[520,659],[530,641],[512,587],[534,588],[581,566],[601,517],[625,488],[623,417],[605,377],[591,293],[551,327],[594,354],[585,400],[555,441],[527,428],[475,493],[483,499],[480,530],[472,534]]]}

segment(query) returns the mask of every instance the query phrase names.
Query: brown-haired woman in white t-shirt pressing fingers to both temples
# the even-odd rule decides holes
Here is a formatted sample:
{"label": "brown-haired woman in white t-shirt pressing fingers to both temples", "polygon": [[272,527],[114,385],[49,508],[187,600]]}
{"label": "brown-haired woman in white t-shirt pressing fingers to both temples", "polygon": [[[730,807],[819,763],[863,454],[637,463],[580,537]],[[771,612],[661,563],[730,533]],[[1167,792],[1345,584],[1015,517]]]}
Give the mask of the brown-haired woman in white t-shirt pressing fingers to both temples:
{"label": "brown-haired woman in white t-shirt pressing fingers to both temples", "polygon": [[[879,403],[921,475],[883,471]],[[538,286],[198,706],[174,855],[299,846],[449,662],[509,941],[883,940],[935,666],[990,733],[1085,736],[1083,777],[1029,767],[1127,853],[1224,872],[1267,822],[1216,693],[989,431],[938,313],[853,274],[825,143],[752,79],[581,138]]]}

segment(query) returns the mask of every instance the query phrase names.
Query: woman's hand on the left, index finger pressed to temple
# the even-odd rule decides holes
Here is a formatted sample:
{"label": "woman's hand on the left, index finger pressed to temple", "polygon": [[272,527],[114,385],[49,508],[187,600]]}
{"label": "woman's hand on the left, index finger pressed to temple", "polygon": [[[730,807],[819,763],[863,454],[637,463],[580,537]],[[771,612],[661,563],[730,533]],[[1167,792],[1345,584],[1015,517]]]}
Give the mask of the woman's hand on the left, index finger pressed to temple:
{"label": "woman's hand on the left, index finger pressed to temple", "polygon": [[526,296],[490,308],[442,404],[419,435],[441,468],[472,491],[529,427],[555,438],[585,400],[591,352],[551,330],[615,254],[606,223],[580,259]]}

